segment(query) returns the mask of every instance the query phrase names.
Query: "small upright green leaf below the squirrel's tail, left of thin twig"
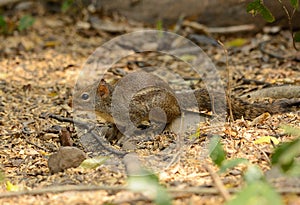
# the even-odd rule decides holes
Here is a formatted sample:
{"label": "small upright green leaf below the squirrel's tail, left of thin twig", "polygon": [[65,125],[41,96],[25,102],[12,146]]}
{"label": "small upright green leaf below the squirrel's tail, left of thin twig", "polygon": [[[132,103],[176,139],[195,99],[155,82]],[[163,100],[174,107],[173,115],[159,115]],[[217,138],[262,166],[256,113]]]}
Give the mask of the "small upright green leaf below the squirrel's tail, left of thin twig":
{"label": "small upright green leaf below the squirrel's tail, left of thin twig", "polygon": [[212,159],[212,161],[220,167],[222,162],[226,159],[226,153],[220,143],[219,136],[213,136],[210,140],[209,153],[209,156]]}

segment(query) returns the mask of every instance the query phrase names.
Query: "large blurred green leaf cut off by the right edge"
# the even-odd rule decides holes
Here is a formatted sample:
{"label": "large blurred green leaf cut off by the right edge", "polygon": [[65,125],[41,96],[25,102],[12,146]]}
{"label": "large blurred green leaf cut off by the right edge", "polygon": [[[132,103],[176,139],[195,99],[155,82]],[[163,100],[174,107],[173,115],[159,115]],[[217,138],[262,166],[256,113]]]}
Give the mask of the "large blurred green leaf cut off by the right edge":
{"label": "large blurred green leaf cut off by the right edge", "polygon": [[279,165],[284,172],[295,166],[295,157],[300,155],[300,139],[281,144],[272,155],[272,164]]}

